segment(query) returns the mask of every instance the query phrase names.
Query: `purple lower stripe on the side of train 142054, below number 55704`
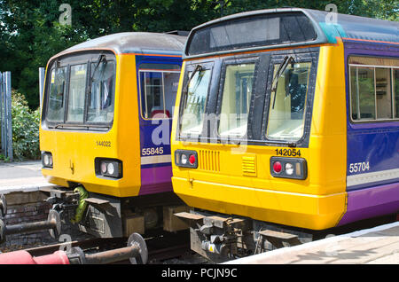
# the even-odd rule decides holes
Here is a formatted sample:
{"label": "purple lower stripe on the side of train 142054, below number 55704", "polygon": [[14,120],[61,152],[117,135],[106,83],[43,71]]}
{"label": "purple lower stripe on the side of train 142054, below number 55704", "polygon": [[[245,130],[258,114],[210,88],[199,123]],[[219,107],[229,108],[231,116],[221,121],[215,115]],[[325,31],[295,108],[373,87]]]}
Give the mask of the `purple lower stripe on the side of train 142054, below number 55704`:
{"label": "purple lower stripe on the side of train 142054, below number 55704", "polygon": [[399,183],[348,192],[348,206],[338,226],[399,211]]}

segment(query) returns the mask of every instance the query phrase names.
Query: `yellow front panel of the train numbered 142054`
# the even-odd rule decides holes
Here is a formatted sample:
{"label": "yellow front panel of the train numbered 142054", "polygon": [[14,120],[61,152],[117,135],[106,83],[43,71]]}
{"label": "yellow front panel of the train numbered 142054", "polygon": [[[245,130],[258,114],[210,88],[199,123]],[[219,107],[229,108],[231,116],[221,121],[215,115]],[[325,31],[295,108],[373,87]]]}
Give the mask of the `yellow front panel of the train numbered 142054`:
{"label": "yellow front panel of the train numbered 142054", "polygon": [[[346,98],[342,43],[320,48],[305,180],[270,175],[270,157],[281,147],[190,144],[172,152],[199,153],[199,168],[179,168],[172,153],[173,187],[189,206],[257,220],[322,230],[335,226],[346,208]],[[182,84],[182,81],[181,83]],[[182,85],[180,85],[180,88]],[[181,90],[178,90],[177,101]],[[178,102],[176,106],[178,106]]]}

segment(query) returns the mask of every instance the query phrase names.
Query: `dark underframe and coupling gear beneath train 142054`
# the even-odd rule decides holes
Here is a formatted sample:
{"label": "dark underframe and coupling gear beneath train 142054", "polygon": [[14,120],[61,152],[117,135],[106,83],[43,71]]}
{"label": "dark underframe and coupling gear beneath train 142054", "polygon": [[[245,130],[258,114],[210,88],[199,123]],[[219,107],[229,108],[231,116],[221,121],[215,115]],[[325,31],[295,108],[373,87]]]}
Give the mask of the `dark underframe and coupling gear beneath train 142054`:
{"label": "dark underframe and coupling gear beneath train 142054", "polygon": [[192,250],[217,263],[280,247],[293,247],[396,220],[396,215],[384,215],[324,231],[312,231],[195,208],[175,215],[190,225]]}

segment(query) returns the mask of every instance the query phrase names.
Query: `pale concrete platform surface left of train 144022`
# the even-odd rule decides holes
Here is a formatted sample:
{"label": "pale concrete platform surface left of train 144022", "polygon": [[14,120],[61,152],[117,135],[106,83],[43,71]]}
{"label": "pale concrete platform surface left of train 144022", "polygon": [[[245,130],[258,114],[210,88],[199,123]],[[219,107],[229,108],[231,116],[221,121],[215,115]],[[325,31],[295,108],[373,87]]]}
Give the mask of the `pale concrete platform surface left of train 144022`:
{"label": "pale concrete platform surface left of train 144022", "polygon": [[35,191],[49,185],[41,161],[0,162],[0,193]]}

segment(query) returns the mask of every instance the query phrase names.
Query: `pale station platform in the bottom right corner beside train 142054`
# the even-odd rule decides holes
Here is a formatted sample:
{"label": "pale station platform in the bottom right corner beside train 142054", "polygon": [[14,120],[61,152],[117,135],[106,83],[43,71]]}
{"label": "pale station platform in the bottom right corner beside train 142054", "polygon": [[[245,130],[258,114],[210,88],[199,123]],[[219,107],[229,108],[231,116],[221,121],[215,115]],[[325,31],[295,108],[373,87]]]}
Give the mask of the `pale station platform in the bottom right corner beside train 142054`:
{"label": "pale station platform in the bottom right corner beside train 142054", "polygon": [[283,247],[225,264],[399,264],[399,222]]}

